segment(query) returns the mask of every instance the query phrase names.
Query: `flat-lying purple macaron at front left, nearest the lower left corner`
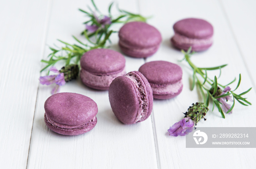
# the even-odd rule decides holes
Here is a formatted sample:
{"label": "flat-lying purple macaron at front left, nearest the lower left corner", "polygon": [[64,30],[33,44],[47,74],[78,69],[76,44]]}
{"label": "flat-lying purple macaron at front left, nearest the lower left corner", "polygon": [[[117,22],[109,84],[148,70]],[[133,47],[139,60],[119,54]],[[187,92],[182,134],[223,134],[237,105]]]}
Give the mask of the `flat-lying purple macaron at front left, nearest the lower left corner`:
{"label": "flat-lying purple macaron at front left, nearest the lower left corner", "polygon": [[90,131],[97,123],[97,113],[97,104],[81,94],[57,93],[45,101],[46,126],[63,135]]}

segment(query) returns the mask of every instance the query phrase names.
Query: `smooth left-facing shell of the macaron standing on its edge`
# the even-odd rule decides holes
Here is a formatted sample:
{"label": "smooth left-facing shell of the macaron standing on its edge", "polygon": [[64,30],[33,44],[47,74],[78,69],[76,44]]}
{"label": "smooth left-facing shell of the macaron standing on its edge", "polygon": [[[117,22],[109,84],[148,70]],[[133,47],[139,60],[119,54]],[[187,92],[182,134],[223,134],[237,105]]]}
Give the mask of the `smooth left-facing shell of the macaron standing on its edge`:
{"label": "smooth left-facing shell of the macaron standing on its edge", "polygon": [[109,87],[109,102],[117,119],[125,124],[132,124],[139,111],[139,101],[135,84],[125,77],[119,76]]}

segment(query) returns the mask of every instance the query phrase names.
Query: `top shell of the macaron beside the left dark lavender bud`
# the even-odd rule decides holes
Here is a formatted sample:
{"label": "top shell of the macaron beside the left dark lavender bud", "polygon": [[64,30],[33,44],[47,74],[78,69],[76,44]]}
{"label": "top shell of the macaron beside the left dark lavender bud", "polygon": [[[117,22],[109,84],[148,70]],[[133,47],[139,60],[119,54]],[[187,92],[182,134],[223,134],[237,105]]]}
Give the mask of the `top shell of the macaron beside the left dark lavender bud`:
{"label": "top shell of the macaron beside the left dark lavender bud", "polygon": [[125,58],[117,51],[94,49],[80,59],[81,68],[98,75],[113,74],[125,67]]}

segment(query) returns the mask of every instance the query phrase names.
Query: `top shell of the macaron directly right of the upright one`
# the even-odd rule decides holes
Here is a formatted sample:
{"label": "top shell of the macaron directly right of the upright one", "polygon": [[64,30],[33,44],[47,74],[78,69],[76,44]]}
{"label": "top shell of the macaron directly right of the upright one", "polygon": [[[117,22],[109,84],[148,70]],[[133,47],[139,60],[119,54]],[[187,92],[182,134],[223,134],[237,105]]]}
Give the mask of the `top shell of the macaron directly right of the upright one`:
{"label": "top shell of the macaron directly right of the upright one", "polygon": [[182,79],[181,67],[166,61],[147,62],[139,68],[139,72],[154,86],[173,84]]}

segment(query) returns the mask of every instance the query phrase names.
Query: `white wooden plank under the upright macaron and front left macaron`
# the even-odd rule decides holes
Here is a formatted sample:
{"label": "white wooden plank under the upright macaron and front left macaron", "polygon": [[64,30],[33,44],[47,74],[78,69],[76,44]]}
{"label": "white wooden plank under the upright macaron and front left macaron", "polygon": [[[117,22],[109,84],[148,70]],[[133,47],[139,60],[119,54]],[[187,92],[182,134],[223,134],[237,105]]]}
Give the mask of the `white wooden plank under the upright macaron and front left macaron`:
{"label": "white wooden plank under the upright macaron and front left macaron", "polygon": [[[105,12],[110,0],[95,0],[95,3]],[[79,36],[84,16],[77,9],[86,9],[86,4],[90,1],[53,2],[47,44],[55,43],[56,39],[74,42],[71,35],[84,40]],[[138,12],[136,0],[120,1],[119,6]],[[117,39],[117,34],[112,36],[112,48],[119,51]],[[48,52],[46,49],[45,56]],[[138,70],[144,60],[126,57],[126,62],[127,71],[132,71]],[[122,124],[111,110],[108,91],[89,89],[78,79],[61,87],[61,92],[80,93],[92,98],[98,104],[98,123],[86,134],[59,135],[44,123],[44,102],[50,96],[50,90],[48,86],[39,86],[28,168],[157,168],[151,118],[135,125]]]}

